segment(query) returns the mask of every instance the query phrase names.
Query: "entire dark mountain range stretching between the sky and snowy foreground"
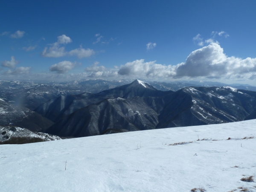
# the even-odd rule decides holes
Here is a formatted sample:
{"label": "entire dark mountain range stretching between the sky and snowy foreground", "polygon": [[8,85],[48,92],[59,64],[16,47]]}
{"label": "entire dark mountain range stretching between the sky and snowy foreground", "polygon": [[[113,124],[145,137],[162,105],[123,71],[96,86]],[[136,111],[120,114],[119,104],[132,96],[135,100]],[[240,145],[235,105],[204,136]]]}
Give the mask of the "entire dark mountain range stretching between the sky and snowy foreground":
{"label": "entire dark mountain range stretching between the sky and snowy foreground", "polygon": [[256,92],[234,88],[247,85],[130,81],[0,81],[0,126],[85,137],[256,118]]}

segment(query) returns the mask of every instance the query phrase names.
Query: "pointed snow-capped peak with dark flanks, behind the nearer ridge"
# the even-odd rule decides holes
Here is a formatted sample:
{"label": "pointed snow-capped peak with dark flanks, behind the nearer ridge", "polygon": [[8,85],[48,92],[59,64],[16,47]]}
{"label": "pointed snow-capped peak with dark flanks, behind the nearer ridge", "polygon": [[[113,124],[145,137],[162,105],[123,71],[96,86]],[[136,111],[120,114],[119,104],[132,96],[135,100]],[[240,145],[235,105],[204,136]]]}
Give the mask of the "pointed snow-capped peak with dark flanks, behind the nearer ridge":
{"label": "pointed snow-capped peak with dark flanks, behind the nearer ridge", "polygon": [[130,84],[115,87],[110,90],[104,90],[96,94],[83,93],[80,95],[60,96],[39,106],[35,109],[35,112],[47,117],[53,122],[57,122],[59,119],[73,113],[79,108],[96,104],[103,99],[118,97],[128,99],[134,96],[155,97],[164,96],[172,92],[173,91],[160,91],[143,81],[135,80]]}

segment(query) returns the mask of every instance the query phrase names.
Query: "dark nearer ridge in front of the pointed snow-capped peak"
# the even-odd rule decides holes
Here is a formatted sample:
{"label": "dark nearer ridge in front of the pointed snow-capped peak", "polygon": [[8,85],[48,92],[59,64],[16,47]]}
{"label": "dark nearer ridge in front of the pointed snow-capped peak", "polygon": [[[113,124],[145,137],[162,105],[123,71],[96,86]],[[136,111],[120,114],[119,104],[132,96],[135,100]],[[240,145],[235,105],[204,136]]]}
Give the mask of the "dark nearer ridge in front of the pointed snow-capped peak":
{"label": "dark nearer ridge in front of the pointed snow-capped peak", "polygon": [[256,93],[232,87],[186,87],[161,97],[105,99],[56,122],[62,137],[207,125],[244,120],[256,111]]}

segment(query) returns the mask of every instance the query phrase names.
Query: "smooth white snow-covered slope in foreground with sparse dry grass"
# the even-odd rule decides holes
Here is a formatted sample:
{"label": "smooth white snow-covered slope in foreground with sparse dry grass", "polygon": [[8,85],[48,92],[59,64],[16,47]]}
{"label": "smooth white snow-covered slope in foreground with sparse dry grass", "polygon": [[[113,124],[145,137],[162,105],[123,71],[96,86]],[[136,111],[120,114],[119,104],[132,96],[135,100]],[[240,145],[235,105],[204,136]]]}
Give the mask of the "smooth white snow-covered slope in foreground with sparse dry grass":
{"label": "smooth white snow-covered slope in foreground with sparse dry grass", "polygon": [[[181,142],[193,143],[169,145]],[[256,191],[256,182],[240,180],[250,175],[256,176],[256,119],[0,145],[1,192]]]}

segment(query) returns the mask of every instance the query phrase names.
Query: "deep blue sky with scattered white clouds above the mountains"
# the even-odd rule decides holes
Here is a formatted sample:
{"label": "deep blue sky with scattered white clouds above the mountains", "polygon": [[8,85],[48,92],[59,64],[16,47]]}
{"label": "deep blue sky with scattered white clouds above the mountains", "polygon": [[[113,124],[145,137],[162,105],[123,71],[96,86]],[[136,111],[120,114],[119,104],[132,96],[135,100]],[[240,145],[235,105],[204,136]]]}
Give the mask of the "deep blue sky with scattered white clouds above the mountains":
{"label": "deep blue sky with scattered white clouds above the mountains", "polygon": [[0,79],[256,85],[256,1],[1,0]]}

